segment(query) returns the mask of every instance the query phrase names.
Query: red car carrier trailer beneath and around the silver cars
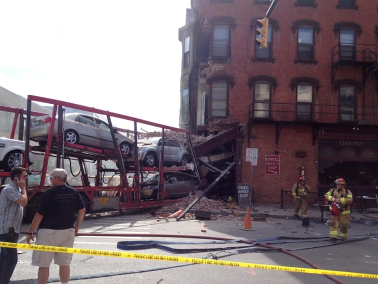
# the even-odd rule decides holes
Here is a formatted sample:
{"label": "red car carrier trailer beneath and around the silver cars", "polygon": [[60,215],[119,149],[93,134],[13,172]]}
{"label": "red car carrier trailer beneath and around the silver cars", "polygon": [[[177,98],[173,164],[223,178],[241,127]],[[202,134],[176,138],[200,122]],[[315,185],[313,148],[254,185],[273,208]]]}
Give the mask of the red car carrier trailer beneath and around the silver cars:
{"label": "red car carrier trailer beneath and around the silver cars", "polygon": [[[50,132],[48,133],[47,143],[45,146],[35,145],[30,146],[30,122],[31,117],[38,115],[33,112],[32,102],[50,105],[52,107]],[[102,115],[107,118],[110,126],[114,142],[114,151],[99,149],[94,147],[83,146],[79,144],[67,143],[63,140],[63,119],[64,113],[67,110],[75,109],[76,112],[93,113],[95,115]],[[115,128],[113,127],[113,120],[124,121],[132,123],[134,129],[131,131],[134,138],[134,154],[132,157],[125,157],[121,154],[119,145],[114,136]],[[54,124],[58,125],[58,133],[54,135]],[[192,155],[192,164],[189,166],[180,167],[165,167],[163,165],[164,147],[160,152],[159,167],[145,168],[138,158],[138,126],[145,125],[157,127],[161,129],[162,138],[164,139],[165,131],[175,131],[182,133],[188,139],[189,153]],[[122,129],[118,129],[120,131]],[[123,129],[124,130],[124,129]],[[170,127],[155,122],[150,122],[124,114],[109,112],[93,107],[87,107],[65,101],[38,97],[28,95],[27,99],[27,113],[25,124],[25,166],[31,169],[26,161],[29,161],[29,149],[33,156],[40,156],[42,159],[39,163],[39,168],[31,169],[32,177],[38,177],[33,184],[28,184],[28,205],[25,211],[27,219],[33,218],[43,193],[51,188],[48,183],[49,171],[53,168],[66,168],[67,172],[72,177],[80,177],[80,184],[70,184],[77,189],[81,194],[85,204],[87,213],[103,212],[103,211],[124,211],[135,208],[149,208],[160,207],[177,200],[170,200],[164,190],[164,171],[192,171],[198,178],[199,188],[202,188],[201,173],[198,171],[198,161],[195,157],[195,151],[190,139],[190,132],[188,130]],[[29,147],[30,146],[30,147]],[[104,166],[108,161],[114,161],[114,168]],[[72,163],[77,165],[73,170]],[[68,164],[67,164],[68,163]],[[38,163],[34,163],[38,164]],[[88,165],[95,170],[89,171]],[[38,166],[38,165],[36,165]],[[36,170],[35,170],[36,169]],[[95,173],[94,173],[95,172]],[[143,182],[143,177],[147,173],[158,172],[160,175],[158,195],[155,200],[141,200],[140,185]],[[92,177],[91,177],[92,176]],[[92,178],[92,182],[90,179]],[[111,179],[116,179],[117,183],[110,183]],[[29,179],[32,180],[32,179]]]}

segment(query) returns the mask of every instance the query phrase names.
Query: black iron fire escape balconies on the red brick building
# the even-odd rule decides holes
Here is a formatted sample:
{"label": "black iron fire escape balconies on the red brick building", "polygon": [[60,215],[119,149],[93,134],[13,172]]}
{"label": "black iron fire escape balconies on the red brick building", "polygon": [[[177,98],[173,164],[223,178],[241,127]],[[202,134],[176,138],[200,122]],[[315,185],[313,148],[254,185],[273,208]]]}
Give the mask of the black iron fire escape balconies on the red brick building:
{"label": "black iron fire escape balconies on the red brick building", "polygon": [[[250,105],[248,122],[248,139],[252,135],[254,123],[276,124],[276,144],[278,144],[280,132],[284,124],[312,126],[312,142],[315,144],[319,133],[324,128],[333,129],[335,125],[345,130],[366,130],[371,132],[378,126],[378,107],[375,106],[375,80],[378,78],[378,46],[373,44],[338,44],[332,49],[331,83],[335,86],[335,77],[343,67],[361,68],[362,83],[358,82],[362,92],[361,105],[355,105],[354,119],[343,121],[340,115],[340,106],[331,104],[313,104],[311,113],[307,116],[300,113],[296,103],[267,102],[265,108],[255,109],[255,102]],[[372,75],[372,76],[371,76]],[[372,78],[372,103],[367,105],[365,87],[368,78]],[[350,80],[350,79],[349,79]],[[342,83],[350,83],[348,80],[339,80]],[[362,85],[362,86],[361,86]],[[352,126],[352,127],[351,127]],[[248,140],[249,141],[249,140]]]}

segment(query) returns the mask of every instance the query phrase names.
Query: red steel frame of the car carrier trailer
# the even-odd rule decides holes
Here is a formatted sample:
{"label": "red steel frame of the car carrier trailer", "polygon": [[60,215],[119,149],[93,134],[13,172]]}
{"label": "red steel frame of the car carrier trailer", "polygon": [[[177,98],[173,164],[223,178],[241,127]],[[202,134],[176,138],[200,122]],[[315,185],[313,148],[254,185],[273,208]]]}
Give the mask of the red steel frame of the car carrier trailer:
{"label": "red steel frame of the car carrier trailer", "polygon": [[[198,177],[199,187],[202,188],[202,178],[201,174],[198,171],[198,162],[195,157],[195,151],[193,150],[193,146],[190,140],[190,131],[180,128],[175,128],[163,124],[158,124],[155,122],[150,122],[143,119],[138,119],[135,117],[130,117],[127,115],[114,113],[110,111],[105,111],[101,109],[96,109],[93,107],[87,107],[83,105],[78,105],[74,103],[69,103],[65,101],[59,101],[55,99],[49,99],[44,97],[38,97],[34,95],[28,95],[28,102],[27,102],[27,117],[26,117],[26,131],[25,131],[25,142],[26,147],[28,148],[30,145],[30,122],[31,122],[31,116],[35,115],[34,112],[32,112],[32,101],[44,103],[44,104],[51,104],[53,106],[53,111],[51,114],[52,121],[50,126],[50,133],[48,135],[47,139],[47,145],[46,147],[40,147],[40,146],[33,146],[31,147],[32,151],[38,151],[39,153],[44,154],[44,160],[43,160],[43,167],[41,171],[41,179],[40,184],[34,187],[28,187],[28,207],[26,211],[26,217],[28,219],[32,218],[32,216],[35,214],[37,206],[39,204],[40,198],[44,191],[48,190],[50,186],[45,185],[46,175],[47,173],[47,164],[49,161],[50,156],[55,156],[57,158],[56,160],[56,167],[61,167],[61,159],[60,157],[64,158],[67,156],[73,157],[75,159],[78,159],[81,171],[82,172],[82,186],[73,186],[76,188],[80,194],[82,195],[85,203],[86,203],[86,209],[87,213],[89,212],[99,212],[99,211],[114,211],[114,210],[127,210],[131,208],[148,208],[148,207],[159,207],[164,206],[167,204],[171,204],[174,202],[177,202],[177,200],[169,200],[167,199],[167,195],[164,191],[164,178],[163,178],[163,172],[165,170],[168,170],[167,168],[163,167],[163,155],[164,155],[164,147],[162,147],[161,153],[160,153],[160,165],[159,168],[143,168],[140,166],[139,159],[138,159],[138,152],[137,152],[137,124],[145,124],[149,126],[154,126],[161,128],[162,137],[164,139],[164,131],[165,130],[171,130],[176,131],[180,133],[185,133],[186,137],[189,141],[189,150],[191,152],[192,158],[193,158],[193,164],[194,164],[194,173]],[[77,109],[78,112],[80,111],[88,111],[95,114],[101,114],[105,115],[108,119],[108,124],[111,129],[111,134],[113,137],[114,142],[114,149],[115,151],[110,150],[104,150],[104,149],[97,149],[97,148],[91,148],[87,146],[81,146],[77,144],[70,144],[67,142],[63,143],[63,128],[62,127],[62,113],[63,108],[73,108]],[[58,115],[57,115],[58,113]],[[57,119],[56,119],[57,117]],[[118,161],[124,161],[125,157],[122,157],[122,154],[120,152],[119,146],[116,143],[116,139],[114,136],[113,126],[112,126],[112,118],[119,118],[127,121],[131,121],[134,124],[134,157],[131,159],[131,161],[128,161],[128,163],[131,163],[131,167],[127,168],[125,167],[124,163],[118,163],[117,166],[119,169],[106,169],[106,171],[114,171],[120,173],[120,184],[118,186],[103,186],[99,183],[99,175],[101,169],[101,161],[103,160],[118,160]],[[57,121],[56,121],[57,120]],[[53,137],[53,128],[54,123],[58,123],[58,137]],[[62,150],[64,151],[64,157],[62,156]],[[29,161],[28,157],[29,153],[28,151],[25,151],[25,161]],[[83,165],[83,162],[85,159],[92,160],[97,163],[97,175],[96,175],[96,184],[95,186],[90,186],[88,182],[88,176],[85,172],[85,165]],[[26,164],[26,167],[28,165]],[[170,171],[176,170],[176,171],[187,171],[188,167],[170,167]],[[155,171],[160,174],[160,181],[159,181],[159,188],[158,188],[158,200],[153,201],[142,201],[140,199],[139,194],[139,186],[140,181],[139,177],[141,176],[141,172],[143,171]],[[128,184],[127,182],[127,175],[133,175],[134,176],[134,182],[132,185]],[[97,181],[98,179],[98,181]],[[97,183],[98,182],[98,183]]]}

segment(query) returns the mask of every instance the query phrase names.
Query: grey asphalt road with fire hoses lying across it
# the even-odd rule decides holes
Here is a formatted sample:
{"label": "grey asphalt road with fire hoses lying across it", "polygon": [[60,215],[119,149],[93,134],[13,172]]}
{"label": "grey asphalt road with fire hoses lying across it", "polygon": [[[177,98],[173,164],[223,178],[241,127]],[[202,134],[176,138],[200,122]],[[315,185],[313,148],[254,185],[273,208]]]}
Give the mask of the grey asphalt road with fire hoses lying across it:
{"label": "grey asphalt road with fire hoses lying across it", "polygon": [[[147,214],[102,215],[87,217],[81,227],[81,234],[75,239],[75,248],[108,250],[173,256],[179,259],[217,258],[219,261],[242,262],[269,266],[293,268],[321,268],[325,270],[377,274],[378,256],[377,225],[367,226],[352,223],[349,241],[330,243],[329,227],[324,223],[311,222],[309,228],[301,226],[301,221],[292,219],[267,218],[252,221],[253,231],[243,230],[245,221],[239,217],[219,217],[217,220],[158,219],[147,218]],[[23,225],[27,230],[29,224]],[[101,234],[114,234],[103,236]],[[370,236],[369,236],[370,234]],[[176,237],[177,236],[177,237]],[[192,236],[187,238],[186,236]],[[282,238],[277,238],[282,237]],[[202,239],[204,238],[204,239]],[[244,239],[250,244],[227,243],[206,244],[213,238]],[[191,249],[175,253],[158,248],[120,250],[121,241],[170,241],[194,242],[194,244],[167,244],[170,249]],[[25,243],[22,236],[20,243]],[[257,251],[246,252],[246,248]],[[287,253],[272,248],[281,248]],[[202,249],[203,251],[194,251]],[[31,265],[31,250],[19,251],[19,263],[12,277],[12,283],[36,283],[37,267]],[[50,268],[50,282],[59,283],[58,266]],[[278,269],[258,269],[231,265],[204,265],[185,262],[155,261],[125,257],[105,257],[75,254],[71,265],[70,283],[91,284],[193,284],[193,283],[280,283],[280,284],[327,284],[377,283],[377,279],[284,272]]]}

